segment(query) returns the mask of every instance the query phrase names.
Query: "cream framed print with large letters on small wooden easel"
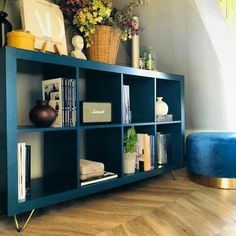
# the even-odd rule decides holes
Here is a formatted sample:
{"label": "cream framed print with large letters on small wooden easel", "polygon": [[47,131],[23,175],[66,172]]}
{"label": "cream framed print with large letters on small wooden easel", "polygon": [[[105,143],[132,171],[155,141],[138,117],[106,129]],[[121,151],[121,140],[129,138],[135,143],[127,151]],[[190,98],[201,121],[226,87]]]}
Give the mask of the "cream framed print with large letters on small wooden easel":
{"label": "cream framed print with large letters on small wooden easel", "polygon": [[63,14],[46,0],[20,0],[22,27],[35,36],[35,48],[67,55]]}

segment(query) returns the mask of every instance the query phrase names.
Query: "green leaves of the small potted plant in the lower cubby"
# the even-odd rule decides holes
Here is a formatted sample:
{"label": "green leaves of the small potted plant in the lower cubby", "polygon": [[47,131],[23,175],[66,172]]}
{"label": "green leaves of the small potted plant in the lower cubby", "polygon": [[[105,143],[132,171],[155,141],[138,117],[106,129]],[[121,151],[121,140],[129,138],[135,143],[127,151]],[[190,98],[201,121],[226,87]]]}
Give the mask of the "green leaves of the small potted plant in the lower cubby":
{"label": "green leaves of the small potted plant in the lower cubby", "polygon": [[130,127],[124,137],[124,151],[126,153],[134,153],[136,151],[136,144],[137,144],[138,138],[135,128],[132,126]]}

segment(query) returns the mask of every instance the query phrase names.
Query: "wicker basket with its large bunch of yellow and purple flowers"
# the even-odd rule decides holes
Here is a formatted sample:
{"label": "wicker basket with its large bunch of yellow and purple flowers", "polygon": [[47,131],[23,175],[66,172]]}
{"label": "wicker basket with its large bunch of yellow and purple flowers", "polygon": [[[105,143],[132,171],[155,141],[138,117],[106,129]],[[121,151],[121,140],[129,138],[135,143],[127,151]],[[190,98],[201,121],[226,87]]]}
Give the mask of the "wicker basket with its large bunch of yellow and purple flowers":
{"label": "wicker basket with its large bunch of yellow and purple flowers", "polygon": [[[138,24],[133,18],[134,10],[147,2],[131,0],[123,10],[117,10],[113,8],[110,0],[48,1],[58,4],[64,17],[82,34],[89,59],[112,64],[116,61],[120,39],[126,41],[139,33]],[[103,53],[104,57],[99,57],[98,51]]]}

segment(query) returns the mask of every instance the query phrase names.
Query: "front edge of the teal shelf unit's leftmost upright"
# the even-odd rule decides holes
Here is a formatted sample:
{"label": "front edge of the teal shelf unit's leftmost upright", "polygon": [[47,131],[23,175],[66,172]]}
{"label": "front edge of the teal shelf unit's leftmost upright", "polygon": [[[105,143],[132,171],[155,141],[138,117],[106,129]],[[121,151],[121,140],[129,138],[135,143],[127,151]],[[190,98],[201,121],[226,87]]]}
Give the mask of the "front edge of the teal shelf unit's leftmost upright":
{"label": "front edge of the teal shelf unit's leftmost upright", "polygon": [[[17,177],[17,57],[15,49],[5,51],[6,56],[6,138],[7,138],[7,202],[8,214],[15,212],[18,205]],[[9,115],[11,114],[11,115]],[[10,157],[10,158],[9,158]]]}

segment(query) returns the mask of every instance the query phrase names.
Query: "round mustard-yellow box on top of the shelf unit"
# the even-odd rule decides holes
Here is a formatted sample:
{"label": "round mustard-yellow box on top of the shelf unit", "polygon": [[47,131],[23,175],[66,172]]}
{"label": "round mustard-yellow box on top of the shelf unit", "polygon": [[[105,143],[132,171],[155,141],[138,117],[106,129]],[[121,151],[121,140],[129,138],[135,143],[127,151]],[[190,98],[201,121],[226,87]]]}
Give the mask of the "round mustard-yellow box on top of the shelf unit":
{"label": "round mustard-yellow box on top of the shelf unit", "polygon": [[7,45],[34,51],[35,37],[28,31],[17,30],[7,33]]}

